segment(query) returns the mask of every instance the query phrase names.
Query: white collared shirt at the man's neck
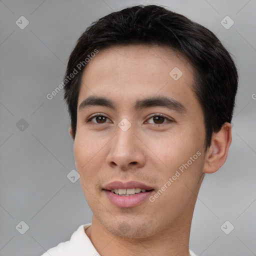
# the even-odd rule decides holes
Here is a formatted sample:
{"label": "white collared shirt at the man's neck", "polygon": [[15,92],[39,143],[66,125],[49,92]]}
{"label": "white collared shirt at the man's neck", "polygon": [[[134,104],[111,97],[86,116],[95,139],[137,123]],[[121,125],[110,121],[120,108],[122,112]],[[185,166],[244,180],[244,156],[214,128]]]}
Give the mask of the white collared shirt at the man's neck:
{"label": "white collared shirt at the man's neck", "polygon": [[[70,237],[70,240],[60,242],[57,246],[48,249],[41,256],[100,256],[89,237],[85,233],[91,223],[80,225]],[[196,256],[189,250],[190,256]]]}

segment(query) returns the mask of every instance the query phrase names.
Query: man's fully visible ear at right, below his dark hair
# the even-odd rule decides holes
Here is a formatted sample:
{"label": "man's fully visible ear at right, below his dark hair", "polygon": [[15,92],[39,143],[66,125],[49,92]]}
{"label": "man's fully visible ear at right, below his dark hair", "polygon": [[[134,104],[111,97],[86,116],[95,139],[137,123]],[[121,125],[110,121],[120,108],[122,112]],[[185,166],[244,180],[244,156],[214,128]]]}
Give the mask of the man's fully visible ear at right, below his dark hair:
{"label": "man's fully visible ear at right, below his dark hair", "polygon": [[231,124],[225,122],[217,133],[213,133],[211,145],[206,152],[203,172],[213,173],[224,164],[231,141]]}

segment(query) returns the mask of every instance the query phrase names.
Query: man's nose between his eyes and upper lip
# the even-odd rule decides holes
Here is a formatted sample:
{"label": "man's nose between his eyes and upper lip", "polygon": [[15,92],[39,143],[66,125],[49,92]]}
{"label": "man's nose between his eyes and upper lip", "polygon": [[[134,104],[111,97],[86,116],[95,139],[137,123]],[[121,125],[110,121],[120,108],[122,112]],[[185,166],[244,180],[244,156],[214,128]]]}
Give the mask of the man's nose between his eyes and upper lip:
{"label": "man's nose between his eyes and upper lip", "polygon": [[139,135],[131,127],[123,131],[116,127],[115,136],[110,140],[110,150],[106,157],[110,167],[128,170],[142,167],[145,164],[146,152]]}

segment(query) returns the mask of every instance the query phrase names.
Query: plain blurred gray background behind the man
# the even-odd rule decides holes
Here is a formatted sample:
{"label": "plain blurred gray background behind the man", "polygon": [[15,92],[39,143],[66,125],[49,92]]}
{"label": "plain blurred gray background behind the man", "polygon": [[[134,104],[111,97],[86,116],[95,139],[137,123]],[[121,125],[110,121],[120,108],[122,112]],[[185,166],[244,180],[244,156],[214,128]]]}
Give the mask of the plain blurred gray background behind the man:
{"label": "plain blurred gray background behind the man", "polygon": [[[205,176],[192,220],[190,248],[202,256],[256,255],[255,0],[0,1],[0,255],[40,255],[68,240],[91,211],[75,169],[69,118],[60,91],[76,39],[94,20],[128,5],[158,3],[217,34],[232,53],[239,90],[225,164]],[[25,16],[20,29],[15,21]],[[226,16],[234,21],[224,28]],[[230,22],[230,20],[228,21]],[[230,24],[228,23],[227,24]],[[254,99],[253,99],[254,98]],[[24,120],[28,127],[24,125]],[[18,123],[18,124],[16,124]],[[234,229],[225,234],[228,220]],[[22,235],[19,231],[29,229]],[[18,225],[19,224],[19,225]],[[15,228],[16,226],[20,228]],[[230,228],[228,223],[226,229]],[[18,231],[19,230],[19,231]]]}

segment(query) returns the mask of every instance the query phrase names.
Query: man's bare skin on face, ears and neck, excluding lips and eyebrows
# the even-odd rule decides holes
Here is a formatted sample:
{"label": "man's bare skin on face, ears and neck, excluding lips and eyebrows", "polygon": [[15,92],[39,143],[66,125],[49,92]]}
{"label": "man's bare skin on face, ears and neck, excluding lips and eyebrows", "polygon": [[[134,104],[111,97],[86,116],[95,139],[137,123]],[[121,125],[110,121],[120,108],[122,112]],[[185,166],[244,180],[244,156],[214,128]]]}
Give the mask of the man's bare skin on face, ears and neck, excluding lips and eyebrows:
{"label": "man's bare skin on face, ears and neck, excluding lips and eyebrows", "polygon": [[[169,75],[174,67],[183,73],[176,81]],[[189,62],[164,46],[111,46],[87,63],[78,96],[73,152],[93,213],[85,232],[101,256],[189,255],[191,219],[203,175],[219,169],[231,143],[231,125],[225,123],[205,151],[203,112],[193,83]],[[93,105],[79,111],[79,104],[90,95],[111,99],[116,109]],[[162,106],[134,110],[137,99],[149,96],[174,98],[186,110],[179,113]],[[85,122],[94,113],[107,118]],[[169,120],[157,122],[149,117],[159,113]],[[123,118],[131,123],[127,131],[118,127]],[[72,136],[71,128],[69,133]],[[153,202],[147,199],[119,208],[102,190],[114,180],[137,180],[158,191],[197,151],[201,155]]]}

